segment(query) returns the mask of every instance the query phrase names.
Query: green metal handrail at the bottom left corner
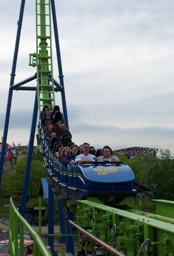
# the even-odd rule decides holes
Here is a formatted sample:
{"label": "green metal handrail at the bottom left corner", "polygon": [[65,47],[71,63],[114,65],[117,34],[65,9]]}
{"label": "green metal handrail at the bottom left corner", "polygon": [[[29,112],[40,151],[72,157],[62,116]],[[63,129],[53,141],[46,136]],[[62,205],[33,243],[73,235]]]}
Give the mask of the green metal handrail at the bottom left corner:
{"label": "green metal handrail at the bottom left corner", "polygon": [[[18,237],[19,225],[19,237]],[[33,256],[51,256],[39,234],[28,224],[25,218],[20,215],[10,198],[10,227],[9,227],[9,255],[24,255],[24,228],[33,237]]]}

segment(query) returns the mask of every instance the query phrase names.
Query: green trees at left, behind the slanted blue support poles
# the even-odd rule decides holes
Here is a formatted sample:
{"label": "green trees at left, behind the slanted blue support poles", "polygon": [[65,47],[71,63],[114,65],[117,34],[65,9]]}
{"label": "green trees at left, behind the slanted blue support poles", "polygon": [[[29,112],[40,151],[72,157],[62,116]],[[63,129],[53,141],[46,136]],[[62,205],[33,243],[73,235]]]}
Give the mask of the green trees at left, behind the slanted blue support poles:
{"label": "green trees at left, behind the slanted blue support poles", "polygon": [[[31,162],[30,181],[29,181],[29,198],[38,197],[39,185],[43,174],[43,162],[39,160],[39,149],[34,150]],[[23,181],[25,176],[25,168],[27,157],[23,157],[14,165],[15,172],[6,172],[2,177],[1,197],[10,197],[17,194],[17,191],[23,191]]]}

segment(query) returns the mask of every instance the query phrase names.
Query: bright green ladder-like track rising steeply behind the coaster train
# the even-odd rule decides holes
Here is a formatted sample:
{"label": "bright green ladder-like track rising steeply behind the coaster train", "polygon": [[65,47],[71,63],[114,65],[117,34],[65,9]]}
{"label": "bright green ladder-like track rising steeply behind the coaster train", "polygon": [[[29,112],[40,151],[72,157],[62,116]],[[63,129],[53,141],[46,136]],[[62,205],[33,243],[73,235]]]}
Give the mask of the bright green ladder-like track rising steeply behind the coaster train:
{"label": "bright green ladder-like track rising steeply behind the coaster train", "polygon": [[55,106],[51,42],[50,0],[36,0],[36,53],[30,54],[30,66],[37,67],[38,109]]}

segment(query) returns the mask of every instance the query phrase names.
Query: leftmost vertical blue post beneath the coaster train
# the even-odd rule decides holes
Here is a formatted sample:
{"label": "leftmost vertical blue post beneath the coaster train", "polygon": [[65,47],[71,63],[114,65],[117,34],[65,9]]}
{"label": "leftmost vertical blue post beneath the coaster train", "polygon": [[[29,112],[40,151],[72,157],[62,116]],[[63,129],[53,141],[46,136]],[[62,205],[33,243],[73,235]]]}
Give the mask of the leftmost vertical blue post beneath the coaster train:
{"label": "leftmost vertical blue post beneath the coaster train", "polygon": [[[54,234],[54,194],[50,186],[48,187],[48,234]],[[54,252],[54,236],[48,237],[48,245]]]}

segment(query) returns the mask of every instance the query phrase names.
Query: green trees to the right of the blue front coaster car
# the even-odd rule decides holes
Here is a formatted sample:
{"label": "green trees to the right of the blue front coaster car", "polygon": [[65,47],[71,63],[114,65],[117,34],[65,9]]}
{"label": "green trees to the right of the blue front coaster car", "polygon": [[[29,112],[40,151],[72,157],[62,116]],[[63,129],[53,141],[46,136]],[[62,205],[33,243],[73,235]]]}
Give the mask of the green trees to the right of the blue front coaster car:
{"label": "green trees to the right of the blue front coaster car", "polygon": [[174,157],[167,149],[160,150],[159,153],[160,157],[141,154],[134,160],[120,154],[115,155],[131,167],[136,180],[141,184],[148,188],[157,184],[157,199],[174,200]]}

